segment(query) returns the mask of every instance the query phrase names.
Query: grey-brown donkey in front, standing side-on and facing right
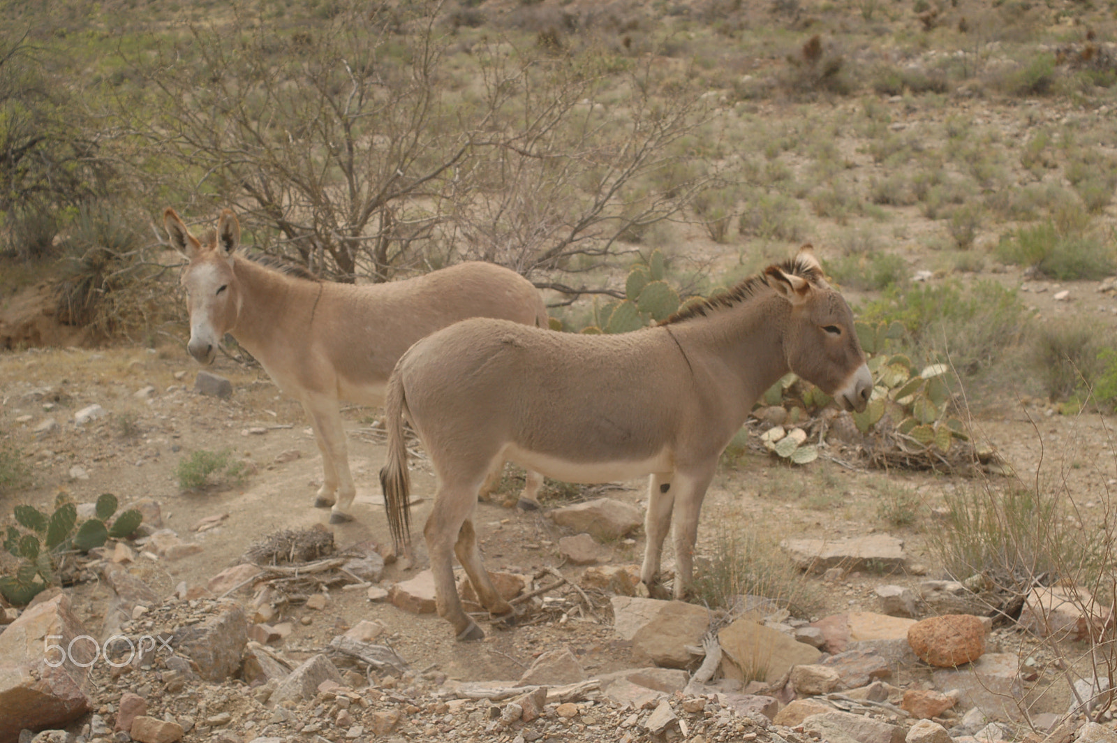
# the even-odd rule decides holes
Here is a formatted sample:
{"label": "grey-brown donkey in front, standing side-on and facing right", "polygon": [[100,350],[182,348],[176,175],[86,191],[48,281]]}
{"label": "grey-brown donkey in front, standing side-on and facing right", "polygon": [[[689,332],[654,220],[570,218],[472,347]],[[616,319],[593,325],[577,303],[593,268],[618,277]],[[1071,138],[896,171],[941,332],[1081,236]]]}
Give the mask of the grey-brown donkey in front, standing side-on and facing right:
{"label": "grey-brown donkey in front, standing side-on and facing right", "polygon": [[484,632],[461,610],[457,554],[494,616],[512,611],[480,562],[472,511],[494,466],[516,461],[572,483],[651,475],[640,578],[659,573],[675,511],[675,596],[690,585],[698,511],[722,450],[755,400],[792,370],[846,409],[863,410],[872,375],[853,315],[809,246],[727,294],[657,327],[622,335],[547,333],[469,320],[416,343],[388,383],[388,464],[380,473],[392,536],[407,542],[411,421],[438,493],[423,528],[438,612],[458,639]]}

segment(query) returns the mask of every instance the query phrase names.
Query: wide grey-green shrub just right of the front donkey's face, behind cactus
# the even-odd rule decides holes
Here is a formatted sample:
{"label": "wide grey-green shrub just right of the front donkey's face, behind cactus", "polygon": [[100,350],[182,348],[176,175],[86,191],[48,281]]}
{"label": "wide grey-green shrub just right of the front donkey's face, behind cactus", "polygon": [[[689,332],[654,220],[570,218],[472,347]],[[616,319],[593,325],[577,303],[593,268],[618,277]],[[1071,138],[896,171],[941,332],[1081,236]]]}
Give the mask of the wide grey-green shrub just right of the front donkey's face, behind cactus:
{"label": "wide grey-green shrub just right of the front donkey's face, behind cactus", "polygon": [[866,322],[899,322],[906,332],[901,346],[919,364],[948,361],[971,375],[1018,344],[1029,317],[1016,293],[995,282],[894,286],[860,313]]}

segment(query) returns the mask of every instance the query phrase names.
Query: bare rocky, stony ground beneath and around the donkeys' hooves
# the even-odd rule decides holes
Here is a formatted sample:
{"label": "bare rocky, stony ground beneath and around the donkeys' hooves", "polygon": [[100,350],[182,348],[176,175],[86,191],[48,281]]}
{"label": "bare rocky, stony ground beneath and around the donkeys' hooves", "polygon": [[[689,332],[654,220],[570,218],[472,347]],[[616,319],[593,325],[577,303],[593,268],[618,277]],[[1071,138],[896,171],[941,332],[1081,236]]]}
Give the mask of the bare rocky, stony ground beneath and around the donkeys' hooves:
{"label": "bare rocky, stony ground beneath and around the donkeys' hooves", "polygon": [[[20,502],[47,508],[60,493],[92,504],[112,490],[145,516],[132,539],[73,564],[60,594],[4,609],[12,623],[0,634],[0,657],[22,670],[0,674],[9,694],[0,688],[3,741],[31,735],[23,727],[90,743],[1114,735],[1105,704],[1091,708],[1100,725],[1068,714],[1067,680],[1092,674],[1076,665],[1082,642],[1038,637],[1050,612],[1032,612],[1029,625],[1025,609],[1031,634],[967,617],[961,629],[932,631],[916,655],[917,619],[987,606],[976,587],[935,580],[925,530],[870,525],[879,524],[878,474],[825,460],[789,470],[746,454],[710,490],[700,551],[716,547],[718,524],[731,520],[785,535],[789,559],[811,568],[804,580],[821,597],[810,617],[779,604],[709,612],[633,597],[640,483],[588,492],[573,505],[552,499],[543,513],[483,503],[487,565],[507,596],[528,598],[517,603],[517,626],[485,623],[484,641],[460,644],[431,613],[421,551],[412,564],[385,549],[373,411],[346,412],[357,518],[327,527],[309,506],[321,477],[313,438],[257,370],[219,364],[231,382],[222,398],[197,391],[197,369],[173,349],[28,351],[6,354],[0,366],[6,445],[34,476],[0,511]],[[1076,441],[1075,461],[1101,460],[1105,420],[1023,412],[1042,421],[1047,440]],[[1009,435],[1020,427],[1012,416],[982,425],[1014,466],[1034,464],[1034,447]],[[228,450],[237,467],[182,490],[181,461],[200,449]],[[432,479],[414,464],[414,490],[429,497]],[[1109,477],[1104,464],[1065,463],[1062,471],[1090,492]],[[960,486],[894,477],[928,506]],[[832,499],[812,505],[804,493],[815,488]],[[417,505],[418,523],[429,506]],[[1044,596],[1030,604],[1050,607]],[[1080,636],[1105,623],[1072,611],[1059,621]],[[70,649],[54,669],[44,638],[59,635]],[[117,639],[90,660],[79,654],[93,640],[69,645],[83,635],[98,647]],[[143,650],[131,663],[121,637]],[[927,663],[944,657],[952,668]],[[1089,687],[1079,695],[1090,697]]]}

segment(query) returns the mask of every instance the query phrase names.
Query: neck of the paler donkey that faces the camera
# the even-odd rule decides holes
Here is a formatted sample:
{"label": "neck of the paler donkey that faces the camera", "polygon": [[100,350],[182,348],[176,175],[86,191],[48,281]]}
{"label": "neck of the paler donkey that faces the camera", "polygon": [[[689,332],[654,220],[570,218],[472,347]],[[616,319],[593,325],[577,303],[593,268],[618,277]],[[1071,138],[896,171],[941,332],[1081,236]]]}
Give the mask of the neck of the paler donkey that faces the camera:
{"label": "neck of the paler donkey that faces the camera", "polygon": [[240,312],[229,333],[249,353],[262,361],[276,335],[309,332],[321,284],[284,276],[241,256],[235,259],[233,273]]}

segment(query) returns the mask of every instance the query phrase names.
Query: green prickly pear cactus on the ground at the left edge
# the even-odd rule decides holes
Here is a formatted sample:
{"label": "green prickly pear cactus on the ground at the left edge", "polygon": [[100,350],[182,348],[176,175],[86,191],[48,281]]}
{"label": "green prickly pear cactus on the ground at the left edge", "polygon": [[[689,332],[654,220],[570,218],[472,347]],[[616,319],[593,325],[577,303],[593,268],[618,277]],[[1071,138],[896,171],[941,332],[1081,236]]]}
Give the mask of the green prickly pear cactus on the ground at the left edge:
{"label": "green prickly pear cactus on the ground at the left edge", "polygon": [[3,549],[21,562],[15,575],[0,578],[0,594],[16,604],[28,603],[55,582],[66,552],[88,552],[109,537],[124,539],[135,532],[143,515],[131,508],[114,520],[117,505],[115,495],[102,494],[94,509],[96,515],[80,526],[77,526],[77,506],[61,496],[55,501],[49,516],[34,506],[16,506],[16,523],[27,531],[9,526],[4,535]]}

